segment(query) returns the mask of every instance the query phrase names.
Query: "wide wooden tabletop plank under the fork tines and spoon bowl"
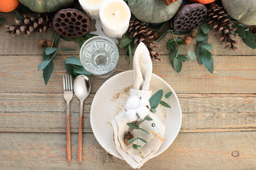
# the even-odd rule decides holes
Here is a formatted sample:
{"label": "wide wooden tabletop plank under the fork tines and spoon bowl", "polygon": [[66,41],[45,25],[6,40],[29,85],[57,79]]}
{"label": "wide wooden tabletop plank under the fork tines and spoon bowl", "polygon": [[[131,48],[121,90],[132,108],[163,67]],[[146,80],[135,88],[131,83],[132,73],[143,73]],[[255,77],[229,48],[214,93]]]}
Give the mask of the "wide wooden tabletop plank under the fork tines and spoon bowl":
{"label": "wide wooden tabletop plank under the fork tines and spoon bowl", "polygon": [[[154,62],[153,72],[167,81],[177,93],[255,93],[256,56],[214,56],[215,70],[211,74],[197,61],[183,62],[182,71],[176,73],[172,64]],[[0,55],[0,92],[4,93],[62,93],[64,60],[60,55],[54,59],[54,73],[45,87],[42,71],[37,66],[42,62],[39,55]],[[116,73],[132,69],[124,56],[120,56]],[[91,76],[92,92],[95,93],[106,79]]]}

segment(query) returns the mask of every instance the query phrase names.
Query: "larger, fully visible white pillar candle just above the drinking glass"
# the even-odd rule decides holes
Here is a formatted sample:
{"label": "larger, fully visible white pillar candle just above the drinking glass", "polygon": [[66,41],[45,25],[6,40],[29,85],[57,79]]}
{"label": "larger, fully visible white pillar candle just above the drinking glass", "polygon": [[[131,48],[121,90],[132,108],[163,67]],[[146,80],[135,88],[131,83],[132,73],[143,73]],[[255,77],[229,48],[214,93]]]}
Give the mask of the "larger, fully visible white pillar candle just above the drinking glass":
{"label": "larger, fully visible white pillar candle just above the drinking glass", "polygon": [[110,38],[122,38],[129,27],[131,11],[123,0],[108,0],[100,6],[102,29]]}

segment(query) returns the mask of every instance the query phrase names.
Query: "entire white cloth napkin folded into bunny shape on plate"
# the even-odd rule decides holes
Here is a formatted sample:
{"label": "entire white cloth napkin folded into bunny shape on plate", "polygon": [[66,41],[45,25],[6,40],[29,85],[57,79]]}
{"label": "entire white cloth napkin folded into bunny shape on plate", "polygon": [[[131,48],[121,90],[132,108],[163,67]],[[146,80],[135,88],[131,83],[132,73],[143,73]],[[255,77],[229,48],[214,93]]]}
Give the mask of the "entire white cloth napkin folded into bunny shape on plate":
{"label": "entire white cloth napkin folded into bunny shape on plate", "polygon": [[[136,48],[136,51],[134,53],[134,59],[133,59],[133,69],[134,69],[134,84],[133,89],[130,91],[130,97],[138,96],[138,100],[140,100],[136,105],[136,103],[133,105],[134,108],[131,107],[132,110],[127,110],[128,102],[126,104],[126,108],[124,108],[124,111],[116,115],[116,117],[113,118],[111,121],[112,127],[113,127],[113,141],[116,146],[116,150],[122,155],[124,160],[132,167],[132,168],[140,168],[143,166],[147,160],[154,157],[156,152],[161,147],[163,141],[159,140],[154,135],[154,132],[159,134],[160,136],[164,136],[165,127],[161,123],[161,121],[154,115],[154,113],[151,113],[149,109],[147,110],[146,106],[148,103],[148,99],[151,97],[151,91],[149,90],[150,87],[150,79],[152,76],[152,60],[150,59],[150,55],[148,52],[147,47],[144,45],[144,43],[140,43],[138,47]],[[142,90],[141,90],[142,89]],[[136,97],[135,97],[136,98]],[[129,103],[131,105],[132,103]],[[146,106],[144,105],[146,104]],[[142,105],[142,106],[139,106]],[[143,143],[142,141],[138,140],[138,145],[141,145],[139,148],[140,153],[138,153],[138,150],[135,150],[132,148],[132,145],[125,145],[124,143],[124,135],[129,131],[129,126],[127,123],[131,123],[136,120],[137,118],[142,119],[145,117],[145,115],[139,113],[139,108],[142,108],[144,113],[145,110],[147,111],[147,117],[152,118],[151,121],[145,120],[141,123],[140,127],[145,129],[150,134],[147,134],[144,131],[138,131],[137,129],[134,129],[131,131],[131,134],[134,136],[134,138],[138,137],[143,138],[147,141],[147,143]],[[150,108],[150,106],[148,106]],[[127,113],[132,113],[132,111],[135,111],[134,117],[128,117]],[[138,113],[136,113],[138,111]],[[137,141],[134,141],[133,144],[137,144]],[[142,155],[142,157],[141,157]]]}

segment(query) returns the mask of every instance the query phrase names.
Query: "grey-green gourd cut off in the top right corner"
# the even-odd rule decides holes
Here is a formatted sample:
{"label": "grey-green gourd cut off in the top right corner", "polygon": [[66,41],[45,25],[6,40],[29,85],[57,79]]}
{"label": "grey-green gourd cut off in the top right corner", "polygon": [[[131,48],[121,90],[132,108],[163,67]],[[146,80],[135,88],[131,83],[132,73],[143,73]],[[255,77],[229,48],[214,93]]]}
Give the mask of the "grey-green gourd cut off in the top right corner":
{"label": "grey-green gourd cut off in the top right corner", "polygon": [[221,0],[230,17],[244,25],[256,25],[256,0]]}

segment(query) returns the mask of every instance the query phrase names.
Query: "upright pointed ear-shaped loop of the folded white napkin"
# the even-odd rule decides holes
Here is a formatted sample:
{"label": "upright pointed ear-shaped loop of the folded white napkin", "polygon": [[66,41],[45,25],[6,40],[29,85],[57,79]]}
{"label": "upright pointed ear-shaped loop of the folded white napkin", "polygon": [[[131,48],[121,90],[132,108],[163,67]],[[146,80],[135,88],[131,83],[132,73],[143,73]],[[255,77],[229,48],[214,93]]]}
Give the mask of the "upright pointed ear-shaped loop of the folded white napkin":
{"label": "upright pointed ear-shaped loop of the folded white napkin", "polygon": [[141,42],[134,53],[133,57],[133,89],[148,90],[152,76],[152,60],[147,46]]}

